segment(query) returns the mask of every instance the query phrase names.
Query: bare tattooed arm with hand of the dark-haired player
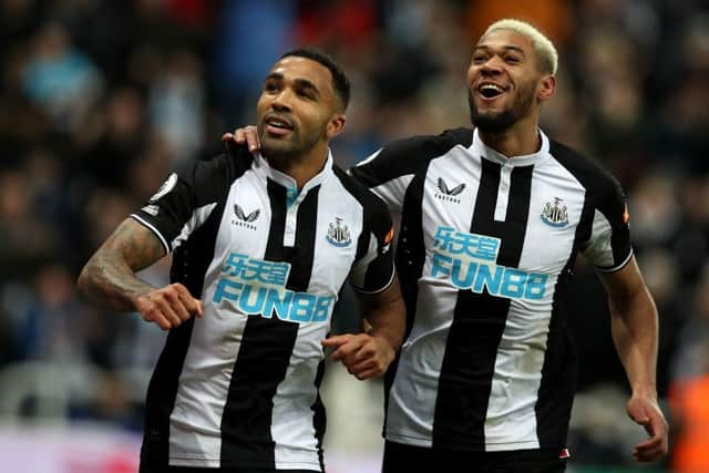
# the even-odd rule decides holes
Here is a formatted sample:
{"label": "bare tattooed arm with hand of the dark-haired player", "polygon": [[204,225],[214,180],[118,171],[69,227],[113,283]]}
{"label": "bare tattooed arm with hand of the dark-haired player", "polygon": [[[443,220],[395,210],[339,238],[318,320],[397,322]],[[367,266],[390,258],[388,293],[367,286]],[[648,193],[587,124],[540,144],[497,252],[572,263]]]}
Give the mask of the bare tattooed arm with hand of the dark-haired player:
{"label": "bare tattooed arm with hand of the dark-haired player", "polygon": [[81,294],[92,302],[122,311],[137,311],[163,330],[179,326],[192,315],[202,317],[202,302],[186,287],[155,288],[135,276],[164,256],[157,237],[126,218],[91,257],[79,276]]}

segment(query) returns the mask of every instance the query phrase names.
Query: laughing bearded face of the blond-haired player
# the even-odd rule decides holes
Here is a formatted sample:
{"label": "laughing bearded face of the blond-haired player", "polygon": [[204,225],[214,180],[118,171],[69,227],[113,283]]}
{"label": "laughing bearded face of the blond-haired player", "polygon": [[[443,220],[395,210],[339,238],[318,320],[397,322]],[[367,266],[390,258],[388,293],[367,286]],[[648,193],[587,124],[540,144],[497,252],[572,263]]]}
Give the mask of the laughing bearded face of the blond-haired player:
{"label": "laughing bearded face of the blond-haired player", "polygon": [[527,117],[536,124],[540,103],[551,97],[554,83],[528,37],[499,29],[477,42],[467,86],[471,121],[481,131],[499,133]]}

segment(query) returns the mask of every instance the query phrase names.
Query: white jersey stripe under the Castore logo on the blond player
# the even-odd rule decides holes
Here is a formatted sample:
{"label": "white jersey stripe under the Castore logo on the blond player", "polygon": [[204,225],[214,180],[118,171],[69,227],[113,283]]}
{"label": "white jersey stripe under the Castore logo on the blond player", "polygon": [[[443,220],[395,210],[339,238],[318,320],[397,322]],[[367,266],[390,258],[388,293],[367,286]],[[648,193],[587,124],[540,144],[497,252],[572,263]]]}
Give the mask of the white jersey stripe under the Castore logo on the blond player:
{"label": "white jersey stripe under the Castore logo on the blond player", "polygon": [[[454,228],[470,228],[480,183],[480,166],[469,164],[470,151],[455,146],[448,154],[434,158],[427,175],[443,178],[450,187],[466,183],[466,199],[458,205],[441,205],[443,197],[432,183],[427,184],[422,206],[424,246],[432,248],[435,227],[445,222]],[[428,229],[428,230],[427,230]],[[453,321],[458,289],[431,277],[430,254],[425,258],[419,282],[417,317],[409,338],[401,348],[395,382],[389,395],[387,439],[418,446],[431,446],[435,393],[443,363],[445,339]],[[439,340],[439,341],[434,341]],[[402,372],[409,373],[408,378]],[[423,389],[420,389],[423,388]],[[433,395],[432,398],[425,394]],[[417,402],[411,402],[415,399]],[[404,412],[405,411],[405,412]]]}

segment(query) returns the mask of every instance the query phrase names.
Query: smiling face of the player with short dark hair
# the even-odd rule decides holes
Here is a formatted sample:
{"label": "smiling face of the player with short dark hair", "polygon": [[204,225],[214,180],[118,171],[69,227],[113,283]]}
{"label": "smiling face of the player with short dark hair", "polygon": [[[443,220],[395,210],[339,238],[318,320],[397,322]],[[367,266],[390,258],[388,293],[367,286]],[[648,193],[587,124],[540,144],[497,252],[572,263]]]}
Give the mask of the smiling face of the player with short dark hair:
{"label": "smiling face of the player with short dark hair", "polygon": [[264,81],[256,117],[261,152],[270,160],[300,160],[327,150],[345,125],[330,71],[300,56],[274,64]]}

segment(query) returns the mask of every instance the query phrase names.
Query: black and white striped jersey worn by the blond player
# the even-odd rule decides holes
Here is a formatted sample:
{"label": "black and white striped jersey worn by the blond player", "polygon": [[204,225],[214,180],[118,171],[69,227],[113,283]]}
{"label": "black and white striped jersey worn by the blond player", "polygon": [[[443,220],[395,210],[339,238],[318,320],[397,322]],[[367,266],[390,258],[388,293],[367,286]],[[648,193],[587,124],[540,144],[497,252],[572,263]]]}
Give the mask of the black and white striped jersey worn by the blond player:
{"label": "black and white striped jersey worn by the blond player", "polygon": [[616,271],[631,247],[618,183],[540,134],[537,153],[506,158],[460,128],[393,142],[351,169],[401,214],[408,332],[387,384],[390,441],[565,444],[576,370],[565,313],[583,304],[564,299],[574,260]]}

